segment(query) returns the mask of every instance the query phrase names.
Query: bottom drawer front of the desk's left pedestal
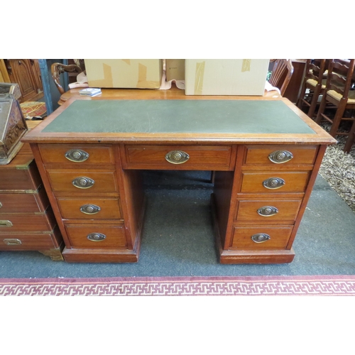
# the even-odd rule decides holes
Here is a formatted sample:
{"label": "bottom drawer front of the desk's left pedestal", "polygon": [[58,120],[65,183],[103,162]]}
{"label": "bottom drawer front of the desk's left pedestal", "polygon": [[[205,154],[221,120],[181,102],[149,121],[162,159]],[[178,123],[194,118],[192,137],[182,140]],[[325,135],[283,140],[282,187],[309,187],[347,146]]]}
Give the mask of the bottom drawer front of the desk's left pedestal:
{"label": "bottom drawer front of the desk's left pedestal", "polygon": [[[126,247],[126,237],[124,234],[124,224],[66,224],[67,233],[72,248],[82,249],[116,249]],[[91,241],[90,234],[102,234],[104,239]]]}

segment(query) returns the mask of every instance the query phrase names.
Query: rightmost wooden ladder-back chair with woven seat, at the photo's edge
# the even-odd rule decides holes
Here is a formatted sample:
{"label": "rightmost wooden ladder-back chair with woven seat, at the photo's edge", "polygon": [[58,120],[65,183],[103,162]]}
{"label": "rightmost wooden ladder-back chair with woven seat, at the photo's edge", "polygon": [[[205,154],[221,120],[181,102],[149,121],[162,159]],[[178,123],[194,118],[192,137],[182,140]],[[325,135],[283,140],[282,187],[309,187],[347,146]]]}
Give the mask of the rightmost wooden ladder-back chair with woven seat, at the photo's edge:
{"label": "rightmost wooden ladder-back chair with woven seat, at the photo's edge", "polygon": [[[320,109],[317,113],[317,124],[321,121],[328,121],[332,124],[329,131],[331,136],[345,135],[349,133],[338,131],[341,121],[354,121],[351,111],[355,109],[355,90],[351,90],[355,80],[354,75],[355,59],[342,60],[332,59],[329,62],[327,84],[324,89]],[[327,104],[334,105],[336,111],[334,118],[326,113]]]}

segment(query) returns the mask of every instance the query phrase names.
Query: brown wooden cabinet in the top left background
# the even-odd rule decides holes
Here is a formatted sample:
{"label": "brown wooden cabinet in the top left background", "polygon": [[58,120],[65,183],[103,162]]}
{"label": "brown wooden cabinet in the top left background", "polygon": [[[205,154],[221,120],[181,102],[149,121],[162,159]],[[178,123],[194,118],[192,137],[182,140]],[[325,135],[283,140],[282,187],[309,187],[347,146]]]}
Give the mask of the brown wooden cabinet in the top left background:
{"label": "brown wooden cabinet in the top left background", "polygon": [[38,101],[43,97],[38,60],[6,59],[4,60],[10,81],[17,83],[22,96],[19,102]]}

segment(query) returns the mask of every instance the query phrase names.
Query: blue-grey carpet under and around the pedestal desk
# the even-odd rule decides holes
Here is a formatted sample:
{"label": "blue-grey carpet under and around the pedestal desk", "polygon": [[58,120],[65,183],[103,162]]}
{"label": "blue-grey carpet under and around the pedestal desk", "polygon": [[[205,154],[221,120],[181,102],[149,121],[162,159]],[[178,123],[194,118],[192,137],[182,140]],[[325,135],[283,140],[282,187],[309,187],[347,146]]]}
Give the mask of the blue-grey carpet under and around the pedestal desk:
{"label": "blue-grey carpet under and around the pedestal desk", "polygon": [[213,275],[354,275],[355,214],[319,175],[298,230],[293,263],[221,265],[214,246],[209,172],[146,172],[138,263],[65,263],[36,251],[0,252],[0,278]]}

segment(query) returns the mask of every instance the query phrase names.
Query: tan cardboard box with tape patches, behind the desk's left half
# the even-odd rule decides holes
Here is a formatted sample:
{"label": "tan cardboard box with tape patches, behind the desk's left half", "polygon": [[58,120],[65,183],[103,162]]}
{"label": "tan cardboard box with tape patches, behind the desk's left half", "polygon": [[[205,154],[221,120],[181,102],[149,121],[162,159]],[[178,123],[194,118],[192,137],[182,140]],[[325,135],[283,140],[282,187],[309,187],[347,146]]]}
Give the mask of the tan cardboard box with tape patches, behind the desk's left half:
{"label": "tan cardboard box with tape patches, behind the desk's left half", "polygon": [[158,89],[162,59],[85,59],[89,87]]}

